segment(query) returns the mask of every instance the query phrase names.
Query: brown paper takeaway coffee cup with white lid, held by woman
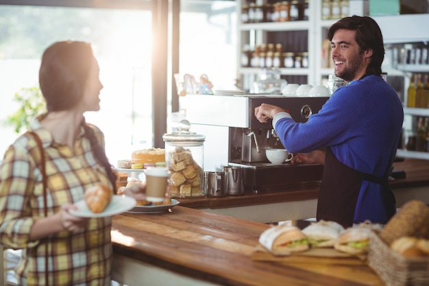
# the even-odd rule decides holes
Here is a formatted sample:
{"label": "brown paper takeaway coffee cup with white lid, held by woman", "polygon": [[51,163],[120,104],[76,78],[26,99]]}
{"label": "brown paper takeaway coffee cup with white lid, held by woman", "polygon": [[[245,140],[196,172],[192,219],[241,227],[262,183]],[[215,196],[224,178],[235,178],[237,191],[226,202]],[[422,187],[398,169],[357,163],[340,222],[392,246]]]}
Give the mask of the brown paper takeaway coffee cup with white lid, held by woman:
{"label": "brown paper takeaway coffee cup with white lid, held by woman", "polygon": [[167,168],[149,167],[146,175],[146,200],[149,202],[163,202],[167,192],[169,171]]}

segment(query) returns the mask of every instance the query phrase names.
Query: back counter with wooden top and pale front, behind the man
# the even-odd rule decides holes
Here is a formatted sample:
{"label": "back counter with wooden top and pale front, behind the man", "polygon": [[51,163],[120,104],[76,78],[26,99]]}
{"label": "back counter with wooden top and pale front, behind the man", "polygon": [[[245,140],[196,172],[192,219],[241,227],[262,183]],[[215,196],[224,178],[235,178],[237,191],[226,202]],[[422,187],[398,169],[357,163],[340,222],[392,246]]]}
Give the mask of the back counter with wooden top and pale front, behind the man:
{"label": "back counter with wooden top and pale front, behind the man", "polygon": [[[429,160],[406,158],[393,164],[394,171],[404,170],[406,178],[391,181],[397,207],[412,199],[429,204]],[[198,208],[208,213],[229,215],[254,222],[280,222],[283,220],[315,217],[320,182],[291,184],[284,191],[245,194],[225,198],[186,198],[181,206]]]}

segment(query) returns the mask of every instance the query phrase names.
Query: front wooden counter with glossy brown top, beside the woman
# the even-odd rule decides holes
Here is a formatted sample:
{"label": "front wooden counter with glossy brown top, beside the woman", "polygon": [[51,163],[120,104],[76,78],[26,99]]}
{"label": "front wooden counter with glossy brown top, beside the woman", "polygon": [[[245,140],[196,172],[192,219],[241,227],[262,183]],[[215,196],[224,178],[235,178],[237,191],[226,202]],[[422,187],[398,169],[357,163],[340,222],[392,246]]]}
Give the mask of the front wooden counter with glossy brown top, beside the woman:
{"label": "front wooden counter with glossy brown top, beside the woman", "polygon": [[175,206],[171,213],[113,217],[112,278],[126,285],[383,285],[358,259],[352,265],[252,260],[267,224]]}

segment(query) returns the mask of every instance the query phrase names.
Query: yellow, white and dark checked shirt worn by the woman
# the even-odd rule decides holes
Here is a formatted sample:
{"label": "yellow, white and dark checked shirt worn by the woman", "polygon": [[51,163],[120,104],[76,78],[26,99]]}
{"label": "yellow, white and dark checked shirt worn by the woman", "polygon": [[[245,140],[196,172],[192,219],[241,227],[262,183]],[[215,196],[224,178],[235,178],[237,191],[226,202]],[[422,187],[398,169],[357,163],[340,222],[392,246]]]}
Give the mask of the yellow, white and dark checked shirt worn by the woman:
{"label": "yellow, white and dark checked shirt worn by the woman", "polygon": [[[91,126],[104,146],[101,130]],[[45,149],[48,216],[62,204],[84,199],[84,190],[103,182],[111,186],[106,171],[90,148],[82,128],[74,149],[53,142],[38,119],[32,123]],[[16,268],[28,286],[45,285],[45,248],[49,256],[49,285],[110,285],[111,218],[93,218],[80,233],[62,231],[40,241],[29,241],[34,221],[45,217],[40,152],[32,134],[23,134],[10,145],[0,169],[0,243],[23,248]]]}

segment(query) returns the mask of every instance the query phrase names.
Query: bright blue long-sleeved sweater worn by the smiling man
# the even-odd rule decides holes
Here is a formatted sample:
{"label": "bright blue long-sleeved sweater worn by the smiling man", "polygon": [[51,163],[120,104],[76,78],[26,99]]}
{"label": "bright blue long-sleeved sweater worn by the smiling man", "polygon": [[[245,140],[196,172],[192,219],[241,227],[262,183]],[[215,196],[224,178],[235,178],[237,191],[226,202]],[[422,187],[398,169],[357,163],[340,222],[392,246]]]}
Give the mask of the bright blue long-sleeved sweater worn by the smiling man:
{"label": "bright blue long-sleeved sweater worn by the smiling man", "polygon": [[[403,121],[404,110],[395,90],[380,76],[369,75],[337,89],[306,123],[295,123],[280,113],[273,127],[289,152],[331,147],[344,165],[382,177],[395,158]],[[368,181],[360,187],[354,222],[365,219],[387,221],[381,185]]]}

